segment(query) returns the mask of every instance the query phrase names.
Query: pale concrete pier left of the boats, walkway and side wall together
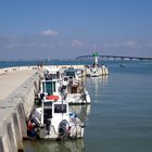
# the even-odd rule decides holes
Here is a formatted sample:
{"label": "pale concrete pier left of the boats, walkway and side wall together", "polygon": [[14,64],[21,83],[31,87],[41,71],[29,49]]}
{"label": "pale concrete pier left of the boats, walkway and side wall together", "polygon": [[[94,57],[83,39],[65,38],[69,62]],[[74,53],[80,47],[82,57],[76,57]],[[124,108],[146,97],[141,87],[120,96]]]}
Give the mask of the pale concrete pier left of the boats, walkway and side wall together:
{"label": "pale concrete pier left of the boats, walkway and side wall together", "polygon": [[0,152],[23,151],[26,121],[38,89],[39,71],[34,67],[0,71]]}

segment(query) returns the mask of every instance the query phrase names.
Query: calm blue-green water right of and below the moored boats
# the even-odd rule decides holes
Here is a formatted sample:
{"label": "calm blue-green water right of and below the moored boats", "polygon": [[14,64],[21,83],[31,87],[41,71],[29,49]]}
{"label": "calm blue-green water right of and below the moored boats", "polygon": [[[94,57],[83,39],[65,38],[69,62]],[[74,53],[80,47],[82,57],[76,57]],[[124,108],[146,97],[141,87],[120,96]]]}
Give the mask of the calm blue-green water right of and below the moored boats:
{"label": "calm blue-green water right of and below the moored boats", "polygon": [[152,62],[107,62],[107,77],[87,78],[91,105],[72,106],[86,124],[85,138],[24,141],[25,152],[151,152]]}

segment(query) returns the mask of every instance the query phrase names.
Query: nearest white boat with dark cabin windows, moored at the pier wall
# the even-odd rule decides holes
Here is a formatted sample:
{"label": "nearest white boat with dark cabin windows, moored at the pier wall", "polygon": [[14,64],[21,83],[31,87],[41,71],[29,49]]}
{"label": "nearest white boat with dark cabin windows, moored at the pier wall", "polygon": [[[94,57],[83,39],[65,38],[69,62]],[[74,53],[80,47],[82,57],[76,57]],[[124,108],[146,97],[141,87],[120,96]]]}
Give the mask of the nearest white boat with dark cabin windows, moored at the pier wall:
{"label": "nearest white boat with dark cabin windows, moored at the pier wall", "polygon": [[34,111],[30,122],[37,126],[40,139],[77,139],[84,137],[85,125],[76,114],[68,112],[66,101],[43,100]]}

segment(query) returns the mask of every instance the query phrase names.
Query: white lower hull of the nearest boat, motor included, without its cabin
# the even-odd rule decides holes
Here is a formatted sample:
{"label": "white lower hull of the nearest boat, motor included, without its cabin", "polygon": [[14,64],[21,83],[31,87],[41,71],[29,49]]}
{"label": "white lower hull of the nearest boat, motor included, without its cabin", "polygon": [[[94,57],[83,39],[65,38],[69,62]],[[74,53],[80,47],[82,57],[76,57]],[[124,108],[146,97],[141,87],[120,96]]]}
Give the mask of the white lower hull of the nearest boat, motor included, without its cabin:
{"label": "white lower hull of the nearest boat, motor included, without its cabin", "polygon": [[[67,119],[47,119],[45,124],[40,123],[42,115],[42,109],[38,107],[33,112],[33,121],[35,123],[35,137],[46,140],[65,140],[65,139],[78,139],[84,138],[85,125],[77,117],[75,113],[69,112]],[[33,132],[33,130],[30,130]]]}

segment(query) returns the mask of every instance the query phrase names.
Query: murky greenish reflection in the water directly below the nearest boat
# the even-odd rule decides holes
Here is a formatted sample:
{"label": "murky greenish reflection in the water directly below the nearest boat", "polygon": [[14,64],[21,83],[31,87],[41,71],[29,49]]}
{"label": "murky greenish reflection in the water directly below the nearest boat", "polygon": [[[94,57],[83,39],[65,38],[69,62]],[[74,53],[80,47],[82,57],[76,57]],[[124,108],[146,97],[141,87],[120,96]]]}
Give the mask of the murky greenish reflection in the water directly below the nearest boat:
{"label": "murky greenish reflection in the water directly below the nearest boat", "polygon": [[24,152],[85,152],[83,139],[67,141],[28,140],[24,142]]}

